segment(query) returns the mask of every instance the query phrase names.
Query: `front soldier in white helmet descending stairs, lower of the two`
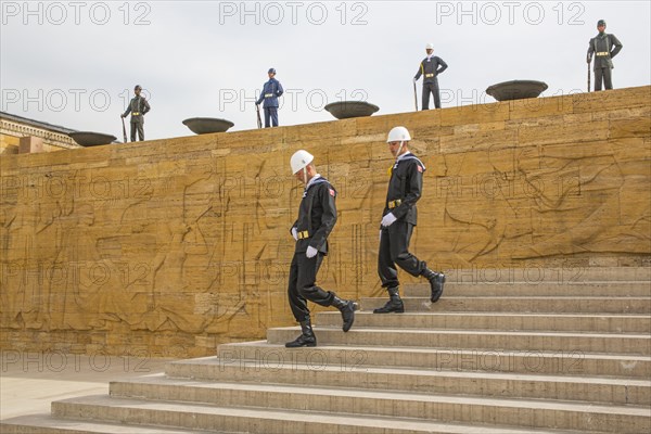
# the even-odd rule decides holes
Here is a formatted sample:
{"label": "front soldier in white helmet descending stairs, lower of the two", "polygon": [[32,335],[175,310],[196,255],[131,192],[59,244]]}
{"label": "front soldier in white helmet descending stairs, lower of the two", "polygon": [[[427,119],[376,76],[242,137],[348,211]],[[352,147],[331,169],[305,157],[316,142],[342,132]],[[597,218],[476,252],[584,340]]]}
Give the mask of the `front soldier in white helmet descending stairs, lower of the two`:
{"label": "front soldier in white helmet descending stairs, lower of the two", "polygon": [[321,261],[328,254],[328,235],[336,222],[336,190],[317,174],[312,161],[314,156],[303,150],[294,153],[290,161],[292,173],[305,184],[305,190],[298,207],[298,219],[290,230],[296,240],[296,247],[290,266],[288,288],[290,307],[294,318],[301,323],[302,334],[285,344],[289,348],[317,345],[307,307],[308,299],[321,306],[336,307],[342,312],[344,332],[353,327],[355,310],[358,308],[357,303],[342,299],[332,291],[323,291],[316,283]]}

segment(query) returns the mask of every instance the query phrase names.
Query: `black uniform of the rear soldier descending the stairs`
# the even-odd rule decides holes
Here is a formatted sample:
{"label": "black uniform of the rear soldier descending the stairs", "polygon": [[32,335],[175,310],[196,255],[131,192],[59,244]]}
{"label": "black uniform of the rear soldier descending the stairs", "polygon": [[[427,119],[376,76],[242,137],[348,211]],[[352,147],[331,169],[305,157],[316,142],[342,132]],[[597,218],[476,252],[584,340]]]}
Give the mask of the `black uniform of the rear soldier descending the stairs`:
{"label": "black uniform of the rear soldier descending the stairs", "polygon": [[421,197],[424,171],[424,164],[412,153],[400,155],[391,170],[382,216],[393,213],[397,220],[386,228],[381,227],[378,273],[383,288],[399,286],[396,264],[414,277],[426,269],[425,263],[409,253],[409,241],[418,218],[416,203]]}

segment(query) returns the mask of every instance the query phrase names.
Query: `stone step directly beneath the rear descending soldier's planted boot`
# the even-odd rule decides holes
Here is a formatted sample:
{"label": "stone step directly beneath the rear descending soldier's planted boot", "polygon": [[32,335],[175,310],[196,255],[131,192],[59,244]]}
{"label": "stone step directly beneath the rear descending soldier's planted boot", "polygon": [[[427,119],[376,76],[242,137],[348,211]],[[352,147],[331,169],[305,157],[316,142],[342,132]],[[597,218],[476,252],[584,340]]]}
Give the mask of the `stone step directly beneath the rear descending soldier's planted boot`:
{"label": "stone step directly beneath the rear descending soldier's planted boot", "polygon": [[[316,326],[341,327],[337,310],[317,312]],[[520,312],[404,312],[379,315],[361,310],[354,327],[387,329],[482,329],[595,333],[651,333],[651,315],[520,314]]]}

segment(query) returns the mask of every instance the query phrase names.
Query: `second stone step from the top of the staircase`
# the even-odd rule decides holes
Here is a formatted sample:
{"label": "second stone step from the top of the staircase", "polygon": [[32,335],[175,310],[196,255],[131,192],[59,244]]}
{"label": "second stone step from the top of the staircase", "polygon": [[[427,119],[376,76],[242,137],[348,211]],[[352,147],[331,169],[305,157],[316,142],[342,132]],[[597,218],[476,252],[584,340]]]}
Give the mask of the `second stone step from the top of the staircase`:
{"label": "second stone step from the top of the staircase", "polygon": [[[429,284],[406,284],[403,293],[412,297],[427,297]],[[381,296],[385,293],[381,292]],[[444,294],[449,296],[549,296],[549,297],[651,297],[651,282],[542,282],[542,283],[446,283]]]}

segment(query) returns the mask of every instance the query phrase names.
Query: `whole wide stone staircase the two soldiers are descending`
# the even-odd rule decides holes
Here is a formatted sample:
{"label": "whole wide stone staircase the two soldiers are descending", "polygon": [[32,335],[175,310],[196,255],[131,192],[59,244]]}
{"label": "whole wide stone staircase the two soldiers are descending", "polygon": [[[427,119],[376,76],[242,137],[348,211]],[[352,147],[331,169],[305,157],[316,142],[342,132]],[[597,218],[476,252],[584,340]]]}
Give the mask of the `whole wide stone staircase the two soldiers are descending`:
{"label": "whole wide stone staircase the two soldiers are descending", "polygon": [[[535,276],[532,276],[535,275]],[[443,298],[404,291],[407,312],[353,330],[316,315],[225,344],[217,357],[52,403],[2,433],[649,433],[651,269],[458,270]]]}

